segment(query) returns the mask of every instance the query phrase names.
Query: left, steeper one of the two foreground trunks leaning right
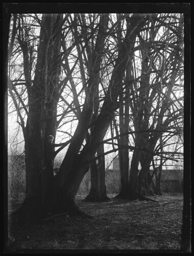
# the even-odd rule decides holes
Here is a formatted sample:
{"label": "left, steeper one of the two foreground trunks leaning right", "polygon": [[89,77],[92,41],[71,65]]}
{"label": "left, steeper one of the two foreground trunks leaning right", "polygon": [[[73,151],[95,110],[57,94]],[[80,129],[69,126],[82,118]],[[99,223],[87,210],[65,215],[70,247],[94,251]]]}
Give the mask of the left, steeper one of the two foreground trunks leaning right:
{"label": "left, steeper one of the two foreground trunks leaning right", "polygon": [[[88,126],[91,124],[91,119],[94,110],[94,98],[99,87],[99,74],[102,62],[102,55],[98,54],[103,52],[104,42],[107,37],[106,30],[108,28],[108,14],[101,15],[99,23],[99,32],[95,41],[95,48],[92,55],[92,73],[88,80],[88,87],[86,89],[86,98],[83,105],[82,113],[79,117],[78,126],[74,137],[68,147],[65,158],[60,166],[59,173],[55,178],[55,191],[57,203],[60,205],[62,211],[68,211],[70,215],[78,214],[79,210],[75,205],[75,197],[78,192],[81,181],[84,175],[89,170],[90,162],[86,159],[83,161],[83,150],[80,153],[80,148],[86,136],[88,135]],[[95,145],[90,150],[90,141],[93,136],[87,138],[84,150],[87,155],[90,155],[91,160],[97,150]]]}

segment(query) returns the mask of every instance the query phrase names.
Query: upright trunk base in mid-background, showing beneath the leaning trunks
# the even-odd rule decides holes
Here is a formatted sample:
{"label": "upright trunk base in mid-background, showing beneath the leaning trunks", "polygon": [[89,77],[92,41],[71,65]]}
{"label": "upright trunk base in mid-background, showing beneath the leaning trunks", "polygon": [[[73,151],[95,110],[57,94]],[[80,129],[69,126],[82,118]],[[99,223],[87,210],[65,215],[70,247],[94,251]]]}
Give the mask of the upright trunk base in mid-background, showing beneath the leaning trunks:
{"label": "upright trunk base in mid-background, showing beneath the leaning trunks", "polygon": [[[97,155],[100,156],[104,154],[104,144],[100,145],[97,150]],[[84,199],[87,202],[100,202],[106,201],[109,198],[106,194],[106,184],[105,184],[105,156],[90,163],[90,173],[91,173],[91,187],[88,196]]]}

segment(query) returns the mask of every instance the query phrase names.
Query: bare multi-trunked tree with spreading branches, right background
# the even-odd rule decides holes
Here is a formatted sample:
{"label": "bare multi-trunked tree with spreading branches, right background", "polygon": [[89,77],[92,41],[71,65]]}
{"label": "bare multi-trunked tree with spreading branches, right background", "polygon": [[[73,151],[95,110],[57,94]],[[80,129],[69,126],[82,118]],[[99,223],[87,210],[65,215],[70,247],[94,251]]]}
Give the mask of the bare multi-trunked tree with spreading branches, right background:
{"label": "bare multi-trunked tree with spreading branches, right background", "polygon": [[[125,185],[122,185],[125,193],[120,191],[119,196],[131,199],[155,192],[150,174],[154,156],[160,155],[163,159],[172,157],[177,161],[175,154],[165,153],[165,157],[160,154],[160,136],[165,137],[163,147],[168,139],[182,136],[182,16],[153,14],[148,24],[137,36],[138,44],[130,56],[124,79],[123,91],[126,93],[120,95],[123,105],[119,105],[120,132],[117,132],[117,137],[121,179],[122,174],[126,174]],[[133,123],[131,130],[130,123]],[[128,134],[131,134],[129,138]],[[130,145],[129,141],[132,141]],[[130,181],[129,150],[133,151]],[[121,184],[124,184],[122,180]]]}

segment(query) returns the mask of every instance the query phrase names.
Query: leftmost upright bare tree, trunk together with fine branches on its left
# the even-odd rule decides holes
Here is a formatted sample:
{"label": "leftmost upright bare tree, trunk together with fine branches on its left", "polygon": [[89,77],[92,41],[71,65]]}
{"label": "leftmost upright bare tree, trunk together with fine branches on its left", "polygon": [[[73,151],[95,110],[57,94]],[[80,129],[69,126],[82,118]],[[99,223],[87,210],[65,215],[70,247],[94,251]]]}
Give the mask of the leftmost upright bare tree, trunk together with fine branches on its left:
{"label": "leftmost upright bare tree, trunk together with fine branches on its left", "polygon": [[[22,14],[13,17],[8,86],[25,139],[27,190],[25,202],[19,209],[21,214],[18,216],[22,219],[25,216],[27,220],[33,221],[42,218],[44,214],[41,209],[48,205],[46,201],[49,200],[54,178],[48,164],[53,163],[53,155],[48,152],[45,138],[48,135],[56,136],[57,102],[62,89],[62,83],[59,83],[59,63],[63,16],[42,15],[42,19],[39,19],[35,15],[31,24],[30,19],[30,15]],[[31,35],[35,19],[41,25],[38,45],[34,45],[36,40]],[[14,40],[17,43],[16,50],[13,50]],[[14,56],[12,59],[11,53]],[[23,82],[19,78],[14,79],[18,71],[14,73],[11,69],[17,54],[22,54],[20,61],[23,71],[19,77],[24,78]],[[35,67],[34,56],[37,59]],[[23,211],[26,214],[23,215]]]}

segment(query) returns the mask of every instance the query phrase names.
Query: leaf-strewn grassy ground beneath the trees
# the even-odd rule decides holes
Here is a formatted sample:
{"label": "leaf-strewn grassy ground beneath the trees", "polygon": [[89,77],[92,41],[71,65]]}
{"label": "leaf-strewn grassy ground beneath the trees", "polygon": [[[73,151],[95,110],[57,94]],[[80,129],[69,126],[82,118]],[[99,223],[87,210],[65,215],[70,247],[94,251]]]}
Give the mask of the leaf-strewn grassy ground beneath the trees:
{"label": "leaf-strewn grassy ground beneath the trees", "polygon": [[76,199],[79,208],[94,218],[56,216],[51,222],[17,231],[8,249],[180,249],[182,194],[152,197],[157,202],[111,198],[90,203],[82,199]]}

